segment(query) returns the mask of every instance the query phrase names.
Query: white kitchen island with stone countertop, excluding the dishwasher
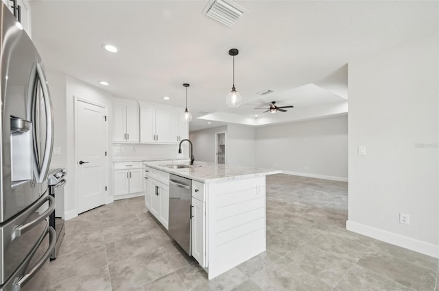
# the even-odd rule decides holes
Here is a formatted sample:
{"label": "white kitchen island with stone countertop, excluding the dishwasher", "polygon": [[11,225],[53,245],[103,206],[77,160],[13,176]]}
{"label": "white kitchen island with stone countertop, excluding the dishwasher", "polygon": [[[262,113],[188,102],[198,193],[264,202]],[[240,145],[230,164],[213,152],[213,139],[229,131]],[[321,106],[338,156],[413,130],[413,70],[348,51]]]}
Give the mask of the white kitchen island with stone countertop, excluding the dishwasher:
{"label": "white kitchen island with stone countertop, excluding the dishwasher", "polygon": [[191,255],[208,278],[265,251],[265,175],[281,170],[207,162],[181,166],[145,162],[145,205],[169,229],[169,175],[191,179]]}

